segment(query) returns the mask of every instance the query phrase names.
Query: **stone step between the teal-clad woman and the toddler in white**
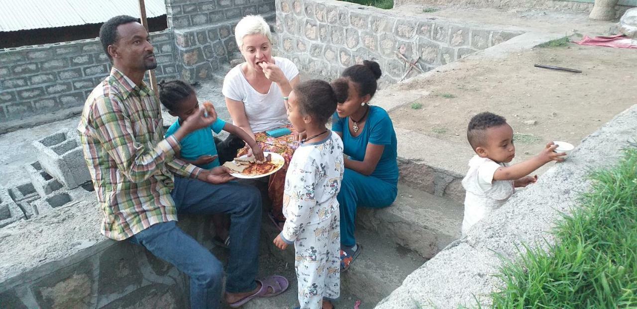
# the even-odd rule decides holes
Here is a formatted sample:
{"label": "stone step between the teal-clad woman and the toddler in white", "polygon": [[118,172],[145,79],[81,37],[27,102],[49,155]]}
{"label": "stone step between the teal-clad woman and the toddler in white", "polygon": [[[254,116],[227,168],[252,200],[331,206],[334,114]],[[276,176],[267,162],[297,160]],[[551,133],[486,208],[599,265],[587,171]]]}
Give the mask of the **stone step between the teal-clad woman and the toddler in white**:
{"label": "stone step between the teal-clad woman and the toddler in white", "polygon": [[400,181],[412,188],[464,203],[462,178],[475,154],[468,144],[395,128]]}

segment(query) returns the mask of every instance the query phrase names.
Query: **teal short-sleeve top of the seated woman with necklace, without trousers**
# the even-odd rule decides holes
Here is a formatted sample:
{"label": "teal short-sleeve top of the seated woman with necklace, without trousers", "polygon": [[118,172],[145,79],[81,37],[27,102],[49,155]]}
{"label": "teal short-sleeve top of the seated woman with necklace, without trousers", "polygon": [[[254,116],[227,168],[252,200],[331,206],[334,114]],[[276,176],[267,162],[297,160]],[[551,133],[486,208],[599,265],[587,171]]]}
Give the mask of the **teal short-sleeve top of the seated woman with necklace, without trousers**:
{"label": "teal short-sleeve top of the seated woman with necklace, without trousers", "polygon": [[357,137],[350,134],[347,118],[334,114],[332,130],[343,134],[343,153],[352,160],[363,161],[367,144],[383,145],[383,154],[371,176],[392,184],[398,183],[397,141],[394,125],[382,107],[369,106],[369,115],[362,132]]}

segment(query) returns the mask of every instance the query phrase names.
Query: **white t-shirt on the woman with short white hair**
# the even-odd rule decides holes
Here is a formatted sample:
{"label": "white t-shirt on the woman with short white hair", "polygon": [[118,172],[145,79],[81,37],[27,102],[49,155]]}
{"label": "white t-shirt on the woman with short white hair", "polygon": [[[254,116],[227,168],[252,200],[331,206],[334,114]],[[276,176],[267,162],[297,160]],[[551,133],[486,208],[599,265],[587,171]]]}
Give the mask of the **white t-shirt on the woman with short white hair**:
{"label": "white t-shirt on the woman with short white hair", "polygon": [[[299,69],[292,61],[281,57],[273,58],[287,80],[291,81],[299,74]],[[222,93],[228,99],[243,102],[245,116],[248,118],[252,132],[263,132],[289,125],[285,102],[278,85],[272,83],[266,94],[257,92],[243,75],[241,65],[243,64],[233,67],[225,75]]]}

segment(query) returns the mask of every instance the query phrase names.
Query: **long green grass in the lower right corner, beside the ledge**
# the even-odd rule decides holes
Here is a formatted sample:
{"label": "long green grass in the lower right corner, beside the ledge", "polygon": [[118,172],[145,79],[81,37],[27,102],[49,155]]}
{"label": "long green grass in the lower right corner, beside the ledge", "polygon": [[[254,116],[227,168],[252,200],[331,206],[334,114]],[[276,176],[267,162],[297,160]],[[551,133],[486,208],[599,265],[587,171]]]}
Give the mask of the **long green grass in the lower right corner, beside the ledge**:
{"label": "long green grass in the lower right corner, beside the ledge", "polygon": [[589,178],[581,207],[552,231],[556,245],[505,262],[493,308],[637,308],[637,148]]}

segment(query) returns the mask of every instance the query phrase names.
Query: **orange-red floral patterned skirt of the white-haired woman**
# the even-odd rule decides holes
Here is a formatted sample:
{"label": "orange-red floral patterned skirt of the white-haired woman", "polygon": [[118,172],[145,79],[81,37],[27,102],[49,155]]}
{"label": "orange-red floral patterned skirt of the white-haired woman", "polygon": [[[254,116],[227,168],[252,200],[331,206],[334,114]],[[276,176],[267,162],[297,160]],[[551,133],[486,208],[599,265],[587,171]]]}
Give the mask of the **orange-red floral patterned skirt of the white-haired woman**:
{"label": "orange-red floral patterned skirt of the white-haired woman", "polygon": [[[288,128],[293,130],[292,126],[289,126]],[[268,181],[268,196],[272,202],[272,215],[278,221],[285,221],[285,216],[283,216],[283,189],[285,188],[285,174],[287,173],[287,167],[290,165],[290,160],[292,160],[292,154],[294,154],[294,151],[299,145],[298,142],[294,141],[294,136],[295,135],[288,134],[280,137],[270,137],[265,132],[254,134],[257,145],[259,145],[263,151],[281,154],[285,160],[283,167],[275,174],[270,175],[270,179]],[[248,148],[246,147],[241,149],[237,156],[243,156],[247,153]]]}

